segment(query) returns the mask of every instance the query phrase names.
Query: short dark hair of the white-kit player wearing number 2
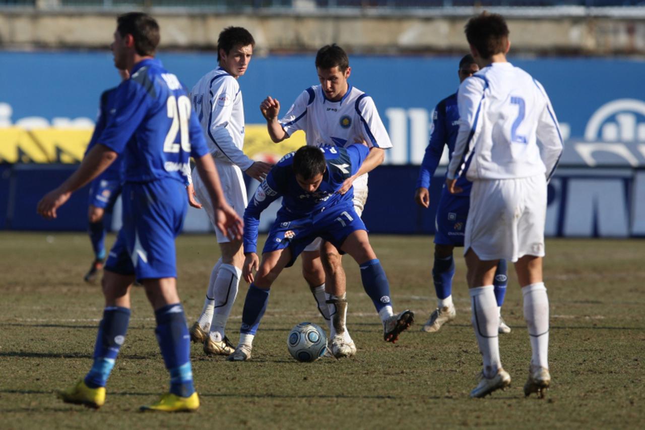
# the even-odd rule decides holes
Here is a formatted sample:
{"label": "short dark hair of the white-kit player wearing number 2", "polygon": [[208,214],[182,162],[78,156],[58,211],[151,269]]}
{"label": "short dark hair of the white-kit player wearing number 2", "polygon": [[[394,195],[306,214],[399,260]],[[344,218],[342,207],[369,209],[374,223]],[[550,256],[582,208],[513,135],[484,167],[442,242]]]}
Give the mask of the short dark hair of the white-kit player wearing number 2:
{"label": "short dark hair of the white-kit player wearing number 2", "polygon": [[465,31],[468,43],[485,59],[504,52],[510,33],[502,15],[488,12],[471,18]]}

